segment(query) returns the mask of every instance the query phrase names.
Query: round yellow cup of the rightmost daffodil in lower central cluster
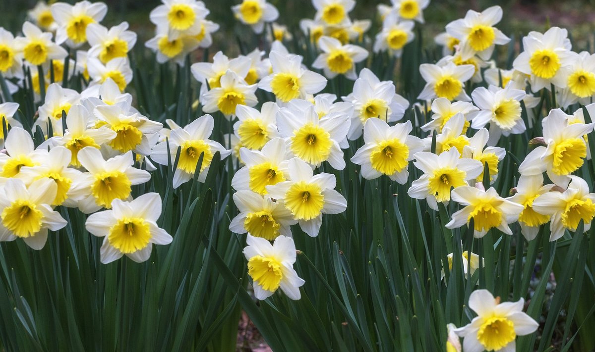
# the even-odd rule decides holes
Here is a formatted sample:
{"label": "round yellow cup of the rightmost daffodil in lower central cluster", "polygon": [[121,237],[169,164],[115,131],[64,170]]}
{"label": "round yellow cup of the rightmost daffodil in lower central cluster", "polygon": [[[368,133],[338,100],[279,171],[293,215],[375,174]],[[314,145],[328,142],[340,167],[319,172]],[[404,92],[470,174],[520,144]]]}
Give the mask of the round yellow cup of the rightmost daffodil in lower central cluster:
{"label": "round yellow cup of the rightmost daffodil in lower central cluster", "polygon": [[285,194],[285,207],[297,220],[311,220],[320,215],[324,206],[324,196],[320,186],[299,181],[294,183]]}

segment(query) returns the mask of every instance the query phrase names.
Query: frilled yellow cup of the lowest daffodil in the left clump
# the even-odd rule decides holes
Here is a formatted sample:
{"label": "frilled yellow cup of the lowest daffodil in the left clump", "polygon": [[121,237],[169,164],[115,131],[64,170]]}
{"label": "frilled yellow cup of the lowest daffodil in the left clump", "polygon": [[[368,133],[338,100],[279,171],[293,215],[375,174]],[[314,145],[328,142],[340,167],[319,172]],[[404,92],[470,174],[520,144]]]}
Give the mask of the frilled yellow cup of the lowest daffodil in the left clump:
{"label": "frilled yellow cup of the lowest daffodil in the left clump", "polygon": [[151,231],[142,218],[122,218],[109,229],[108,241],[121,253],[134,253],[149,246]]}

